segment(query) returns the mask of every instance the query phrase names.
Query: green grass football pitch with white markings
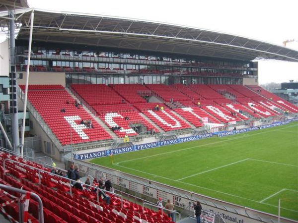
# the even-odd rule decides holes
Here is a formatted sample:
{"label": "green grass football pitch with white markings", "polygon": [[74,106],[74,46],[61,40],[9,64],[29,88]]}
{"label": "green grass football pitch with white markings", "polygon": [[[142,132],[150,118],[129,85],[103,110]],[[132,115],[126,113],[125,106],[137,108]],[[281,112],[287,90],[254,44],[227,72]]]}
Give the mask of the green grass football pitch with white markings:
{"label": "green grass football pitch with white markings", "polygon": [[185,190],[298,220],[298,123],[94,159]]}

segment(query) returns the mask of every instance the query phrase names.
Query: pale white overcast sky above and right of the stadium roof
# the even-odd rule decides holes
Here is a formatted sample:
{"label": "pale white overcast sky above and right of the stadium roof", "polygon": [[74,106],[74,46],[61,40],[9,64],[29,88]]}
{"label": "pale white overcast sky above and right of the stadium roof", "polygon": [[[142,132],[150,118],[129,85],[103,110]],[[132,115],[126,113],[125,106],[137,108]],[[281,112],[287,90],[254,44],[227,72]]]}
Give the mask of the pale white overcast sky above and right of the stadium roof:
{"label": "pale white overcast sky above and right of the stadium roof", "polygon": [[[204,28],[282,45],[298,41],[297,0],[27,0],[30,7]],[[298,50],[298,42],[287,47]],[[259,83],[298,81],[298,62],[260,61]],[[272,69],[273,68],[273,69]]]}

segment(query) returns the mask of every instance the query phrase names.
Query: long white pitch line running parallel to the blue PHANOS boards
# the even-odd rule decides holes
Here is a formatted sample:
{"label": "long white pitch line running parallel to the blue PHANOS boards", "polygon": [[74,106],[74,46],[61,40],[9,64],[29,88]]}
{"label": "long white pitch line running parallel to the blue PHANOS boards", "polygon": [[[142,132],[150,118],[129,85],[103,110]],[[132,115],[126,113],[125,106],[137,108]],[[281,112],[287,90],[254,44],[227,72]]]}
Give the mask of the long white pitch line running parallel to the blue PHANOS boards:
{"label": "long white pitch line running parallel to the blue PHANOS boards", "polygon": [[[287,127],[282,128],[282,129],[286,129],[286,128],[290,128],[290,127],[292,127],[292,126],[287,126]],[[241,133],[241,135],[240,134],[237,134],[237,135],[239,135],[239,137],[236,137],[237,136],[236,135],[235,137],[227,138],[227,139],[220,138],[222,140],[220,140],[218,142],[207,143],[207,144],[199,145],[199,146],[187,147],[187,148],[184,148],[184,149],[181,149],[181,150],[175,150],[175,151],[170,151],[170,152],[165,152],[165,153],[158,153],[158,154],[154,154],[154,155],[147,156],[147,157],[140,157],[140,158],[136,158],[136,159],[125,160],[125,161],[118,162],[118,164],[130,162],[130,161],[142,160],[142,159],[151,158],[151,157],[157,157],[157,156],[171,154],[171,153],[177,153],[177,152],[180,152],[180,151],[185,151],[185,150],[194,149],[194,148],[200,148],[200,147],[203,147],[203,146],[215,145],[215,144],[218,144],[218,143],[233,141],[233,140],[237,140],[237,139],[241,139],[241,138],[245,138],[245,137],[250,137],[250,136],[254,136],[254,135],[259,135],[259,134],[264,134],[264,133],[267,133],[267,132],[273,132],[273,131],[278,131],[278,130],[277,129],[273,129],[273,130],[270,130],[270,131],[266,131],[266,132],[263,131],[263,132],[258,132],[256,134],[250,134],[250,135],[245,134],[245,133]],[[155,147],[155,148],[158,148],[158,147]]]}

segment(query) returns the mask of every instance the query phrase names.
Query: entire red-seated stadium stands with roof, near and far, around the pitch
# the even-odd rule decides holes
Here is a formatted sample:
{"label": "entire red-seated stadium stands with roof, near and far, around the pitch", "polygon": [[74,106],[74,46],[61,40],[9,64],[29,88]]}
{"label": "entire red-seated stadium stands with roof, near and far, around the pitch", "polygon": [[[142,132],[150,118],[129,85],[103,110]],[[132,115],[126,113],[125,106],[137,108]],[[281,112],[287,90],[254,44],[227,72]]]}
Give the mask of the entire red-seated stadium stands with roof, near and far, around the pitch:
{"label": "entire red-seated stadium stands with roof, near and far, around the pitch", "polygon": [[255,59],[298,51],[26,0],[1,0],[0,28],[1,223],[195,223],[197,201],[208,223],[297,222],[89,161],[297,121],[296,105],[258,86]]}

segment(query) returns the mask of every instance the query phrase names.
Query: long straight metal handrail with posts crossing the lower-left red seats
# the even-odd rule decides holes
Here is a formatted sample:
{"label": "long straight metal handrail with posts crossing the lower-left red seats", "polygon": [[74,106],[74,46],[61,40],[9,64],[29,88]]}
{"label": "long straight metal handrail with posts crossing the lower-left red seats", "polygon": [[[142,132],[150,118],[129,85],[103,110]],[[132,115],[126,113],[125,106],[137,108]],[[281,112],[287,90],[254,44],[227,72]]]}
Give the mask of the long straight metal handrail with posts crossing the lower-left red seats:
{"label": "long straight metal handrail with posts crossing the lower-left red seats", "polygon": [[[36,168],[36,167],[32,167],[32,166],[30,166],[30,165],[27,165],[27,164],[23,164],[23,163],[20,163],[20,162],[17,162],[17,161],[15,161],[15,160],[11,160],[11,159],[5,159],[5,160],[3,160],[3,174],[4,175],[6,175],[6,173],[5,173],[5,170],[6,170],[6,167],[5,167],[5,162],[6,161],[9,161],[9,162],[12,162],[12,163],[17,163],[17,164],[20,164],[20,165],[23,165],[23,166],[26,166],[26,167],[30,167],[30,168],[32,168],[32,169],[37,169],[38,170],[38,183],[39,184],[41,184],[41,172],[46,172],[47,174],[50,174],[50,175],[54,175],[54,176],[58,176],[58,177],[60,177],[60,178],[62,178],[62,179],[65,179],[65,180],[69,180],[70,181],[70,194],[72,195],[73,194],[73,192],[72,192],[72,182],[77,182],[76,180],[72,180],[72,179],[70,179],[70,178],[67,178],[67,177],[64,177],[64,176],[60,176],[60,175],[57,175],[57,174],[55,174],[55,173],[51,173],[51,172],[48,172],[48,171],[46,171],[46,170],[43,170],[43,169],[39,169],[39,168]],[[91,185],[89,185],[89,184],[85,184],[85,183],[83,183],[83,182],[80,182],[80,184],[83,184],[83,185],[85,185],[85,186],[87,186],[87,187],[91,187],[91,188],[94,188],[94,189],[96,189],[96,191],[98,192],[98,190],[100,190],[101,192],[103,192],[103,194],[104,195],[106,195],[106,192],[108,192],[108,193],[110,193],[110,194],[114,194],[115,196],[117,196],[117,197],[120,197],[121,198],[121,208],[123,208],[123,196],[121,195],[121,194],[116,194],[116,193],[114,193],[114,192],[111,192],[111,191],[108,191],[108,190],[104,190],[104,189],[99,189],[98,187],[94,187],[94,186],[91,186]],[[96,193],[97,194],[97,202],[99,202],[99,193]],[[106,195],[107,196],[107,195]]]}

